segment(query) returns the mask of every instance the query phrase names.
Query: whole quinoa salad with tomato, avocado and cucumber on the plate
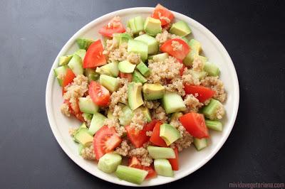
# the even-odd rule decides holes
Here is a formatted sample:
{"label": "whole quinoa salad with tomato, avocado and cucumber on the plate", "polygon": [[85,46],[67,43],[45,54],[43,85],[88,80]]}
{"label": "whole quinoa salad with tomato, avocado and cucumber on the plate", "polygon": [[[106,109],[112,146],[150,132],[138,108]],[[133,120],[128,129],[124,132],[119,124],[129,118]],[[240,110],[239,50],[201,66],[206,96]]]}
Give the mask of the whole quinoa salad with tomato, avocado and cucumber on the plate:
{"label": "whole quinoa salad with tomato, avocado and cucumber on the plate", "polygon": [[160,4],[127,26],[115,16],[98,31],[103,40],[78,38],[79,49],[54,69],[61,112],[82,122],[69,129],[79,155],[131,183],[173,177],[182,150],[200,151],[209,129],[222,131],[219,68],[174,17]]}

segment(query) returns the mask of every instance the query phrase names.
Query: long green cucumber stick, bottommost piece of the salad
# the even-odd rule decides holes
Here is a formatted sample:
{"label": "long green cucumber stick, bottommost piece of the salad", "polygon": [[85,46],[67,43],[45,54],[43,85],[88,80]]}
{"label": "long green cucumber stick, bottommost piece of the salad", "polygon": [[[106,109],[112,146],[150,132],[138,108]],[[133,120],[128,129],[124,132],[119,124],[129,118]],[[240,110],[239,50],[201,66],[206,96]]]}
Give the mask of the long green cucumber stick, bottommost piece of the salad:
{"label": "long green cucumber stick, bottommost piece of the salad", "polygon": [[145,180],[147,174],[148,172],[145,170],[122,165],[119,165],[115,171],[115,175],[118,178],[138,185],[141,184],[143,180]]}

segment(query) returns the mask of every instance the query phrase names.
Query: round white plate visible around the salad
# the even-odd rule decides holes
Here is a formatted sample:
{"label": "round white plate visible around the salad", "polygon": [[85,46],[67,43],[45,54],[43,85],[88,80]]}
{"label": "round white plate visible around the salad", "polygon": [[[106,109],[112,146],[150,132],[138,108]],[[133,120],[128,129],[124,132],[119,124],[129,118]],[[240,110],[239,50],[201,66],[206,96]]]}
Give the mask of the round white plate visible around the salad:
{"label": "round white plate visible around the salad", "polygon": [[[108,13],[105,16],[91,21],[86,26],[81,28],[71,39],[68,40],[66,45],[63,46],[61,51],[58,53],[56,60],[53,63],[51,71],[48,75],[48,82],[46,85],[46,112],[48,114],[48,121],[51,125],[51,130],[53,131],[58,144],[63,148],[63,151],[75,162],[78,166],[81,166],[84,170],[88,171],[92,175],[97,176],[103,180],[111,183],[117,183],[120,185],[131,185],[138,186],[133,183],[128,183],[124,180],[119,180],[115,175],[110,175],[99,171],[97,168],[97,163],[94,161],[86,161],[81,156],[78,155],[78,145],[73,142],[71,137],[68,135],[68,128],[70,126],[79,126],[79,122],[76,119],[70,119],[60,112],[60,106],[63,102],[63,97],[61,96],[61,87],[59,87],[56,78],[53,75],[53,69],[58,66],[58,57],[61,55],[71,54],[76,49],[76,38],[87,37],[87,38],[101,38],[98,34],[99,28],[114,16],[120,16],[123,23],[126,24],[129,18],[134,16],[147,17],[153,11],[153,8],[141,7],[141,8],[131,8],[123,9],[120,11],[115,11],[113,13]],[[191,38],[195,38],[202,44],[202,49],[204,55],[209,58],[209,61],[216,63],[221,70],[221,79],[224,82],[224,87],[227,90],[227,102],[224,107],[227,111],[227,116],[222,119],[224,124],[224,129],[222,132],[210,131],[211,139],[209,139],[209,146],[204,148],[202,151],[196,151],[193,146],[185,149],[180,153],[180,170],[175,171],[175,176],[173,178],[157,176],[157,178],[151,180],[145,180],[140,186],[150,186],[150,185],[161,185],[164,183],[170,183],[174,180],[183,178],[190,173],[193,173],[198,168],[202,167],[207,161],[209,161],[214,154],[219,151],[224,142],[227,140],[229,133],[232,131],[234,126],[234,121],[237,117],[237,110],[239,107],[239,83],[237,80],[237,73],[234,69],[227,50],[225,50],[222,43],[209,31],[207,28],[202,26],[197,21],[172,11],[175,15],[176,20],[182,20],[187,22],[192,29]],[[72,23],[71,23],[72,24]]]}

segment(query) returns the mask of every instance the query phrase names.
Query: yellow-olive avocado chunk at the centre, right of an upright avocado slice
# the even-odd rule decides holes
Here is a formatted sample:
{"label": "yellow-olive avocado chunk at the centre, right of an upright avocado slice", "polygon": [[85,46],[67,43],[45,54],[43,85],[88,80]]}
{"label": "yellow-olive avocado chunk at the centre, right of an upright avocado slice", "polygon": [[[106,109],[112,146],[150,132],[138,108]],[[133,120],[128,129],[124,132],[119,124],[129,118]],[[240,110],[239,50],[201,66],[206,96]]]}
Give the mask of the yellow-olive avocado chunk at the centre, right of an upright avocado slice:
{"label": "yellow-olive avocado chunk at the centre, right of an upright avocado slice", "polygon": [[165,87],[160,83],[145,83],[142,86],[142,92],[145,99],[161,99],[165,94]]}

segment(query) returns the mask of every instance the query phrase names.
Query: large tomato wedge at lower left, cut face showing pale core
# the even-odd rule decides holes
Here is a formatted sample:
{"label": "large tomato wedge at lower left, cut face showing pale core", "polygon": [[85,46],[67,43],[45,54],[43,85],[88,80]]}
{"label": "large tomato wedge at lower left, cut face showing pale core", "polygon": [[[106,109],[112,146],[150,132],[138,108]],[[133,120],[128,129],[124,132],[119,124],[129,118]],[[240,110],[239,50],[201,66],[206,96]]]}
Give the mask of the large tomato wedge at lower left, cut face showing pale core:
{"label": "large tomato wedge at lower left, cut face showing pale core", "polygon": [[93,147],[96,159],[99,160],[105,153],[113,151],[121,143],[122,139],[114,127],[102,126],[94,135]]}

